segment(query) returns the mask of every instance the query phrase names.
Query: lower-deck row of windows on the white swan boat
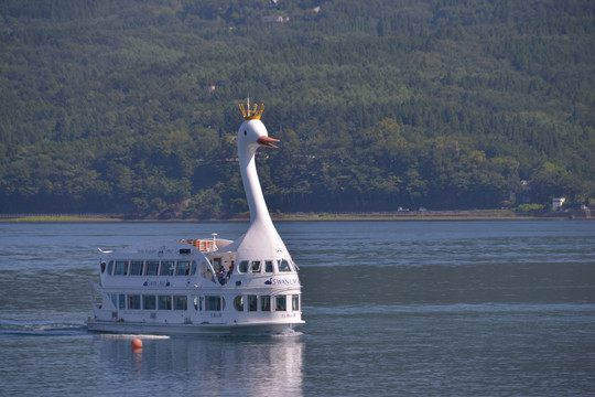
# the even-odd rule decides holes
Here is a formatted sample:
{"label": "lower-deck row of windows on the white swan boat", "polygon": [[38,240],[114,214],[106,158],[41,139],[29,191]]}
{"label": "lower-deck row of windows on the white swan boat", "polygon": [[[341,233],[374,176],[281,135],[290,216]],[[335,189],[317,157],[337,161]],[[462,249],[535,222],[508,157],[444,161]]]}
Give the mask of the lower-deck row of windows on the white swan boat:
{"label": "lower-deck row of windows on the white swan boat", "polygon": [[[154,296],[154,294],[123,294],[111,293],[111,303],[120,310],[188,310],[187,296]],[[191,297],[194,310],[221,311],[225,310],[225,298],[219,296]],[[237,311],[288,311],[300,310],[300,296],[237,296],[234,298],[234,308]],[[272,303],[272,304],[271,304]]]}

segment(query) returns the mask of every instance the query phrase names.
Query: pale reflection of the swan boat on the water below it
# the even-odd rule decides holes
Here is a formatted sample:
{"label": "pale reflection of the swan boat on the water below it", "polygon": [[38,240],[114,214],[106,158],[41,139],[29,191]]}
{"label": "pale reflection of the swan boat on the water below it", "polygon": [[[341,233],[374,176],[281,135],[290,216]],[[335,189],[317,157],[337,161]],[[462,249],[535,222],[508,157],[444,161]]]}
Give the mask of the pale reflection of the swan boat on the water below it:
{"label": "pale reflection of the swan boat on the water below it", "polygon": [[[303,395],[304,342],[275,337],[145,337],[142,352],[132,336],[94,335],[106,380],[133,378],[134,387],[171,395]],[[231,393],[232,391],[232,393]]]}

